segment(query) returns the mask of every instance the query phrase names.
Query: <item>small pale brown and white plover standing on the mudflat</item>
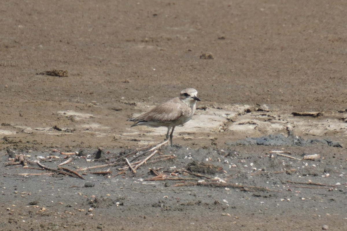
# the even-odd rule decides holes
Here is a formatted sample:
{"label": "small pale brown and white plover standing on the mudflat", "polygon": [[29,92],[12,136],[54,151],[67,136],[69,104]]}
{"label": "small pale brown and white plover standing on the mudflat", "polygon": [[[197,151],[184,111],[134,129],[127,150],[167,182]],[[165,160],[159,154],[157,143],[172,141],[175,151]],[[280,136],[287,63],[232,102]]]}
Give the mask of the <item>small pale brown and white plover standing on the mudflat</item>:
{"label": "small pale brown and white plover standing on the mudflat", "polygon": [[169,139],[172,147],[172,133],[177,125],[187,123],[194,115],[196,102],[200,101],[194,88],[186,88],[181,91],[179,97],[170,99],[154,107],[149,112],[128,121],[136,122],[133,126],[146,125],[150,127],[167,127],[166,140]]}

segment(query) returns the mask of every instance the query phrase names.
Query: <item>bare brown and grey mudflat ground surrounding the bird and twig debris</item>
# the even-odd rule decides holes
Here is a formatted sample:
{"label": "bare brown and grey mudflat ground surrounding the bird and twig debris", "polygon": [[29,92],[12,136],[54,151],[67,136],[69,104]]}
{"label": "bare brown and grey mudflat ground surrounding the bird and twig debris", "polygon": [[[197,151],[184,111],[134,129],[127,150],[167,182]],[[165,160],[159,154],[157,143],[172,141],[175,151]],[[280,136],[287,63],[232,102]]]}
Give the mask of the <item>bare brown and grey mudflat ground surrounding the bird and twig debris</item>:
{"label": "bare brown and grey mudflat ground surrounding the bird and twig debris", "polygon": [[[36,151],[35,159],[53,148],[84,148],[92,153],[102,146],[112,154],[159,143],[165,128],[130,128],[132,123],[126,119],[194,87],[202,100],[196,115],[176,128],[177,146],[161,150],[178,159],[156,167],[186,166],[184,158],[189,154],[184,150],[188,148],[193,159],[201,162],[211,157],[218,164],[217,159],[222,159],[220,165],[224,164],[228,176],[234,174],[229,164],[238,163],[237,172],[243,173],[236,179],[246,185],[281,188],[281,180],[298,181],[298,176],[305,182],[341,185],[331,192],[303,189],[291,195],[295,199],[282,202],[287,194],[259,196],[201,186],[165,188],[162,181],[141,187],[138,179],[149,177],[147,166],[137,176],[128,172],[113,182],[101,176],[91,178],[97,183],[92,188],[84,188],[83,180],[65,177],[61,183],[51,176],[25,178],[15,175],[27,171],[21,167],[1,167],[0,230],[275,231],[320,230],[324,224],[330,230],[347,230],[346,15],[343,0],[2,1],[3,166],[8,162],[7,147],[17,153]],[[209,53],[213,59],[200,58]],[[67,71],[68,77],[39,74],[53,69]],[[322,115],[291,115],[307,111]],[[246,137],[287,135],[287,128],[304,139],[339,142],[342,148],[230,145]],[[325,159],[308,163],[318,166],[313,174],[300,170],[295,177],[249,178],[252,161],[259,161],[258,169],[283,170],[282,162],[273,165],[266,159],[269,151],[280,149],[296,157],[319,153]],[[226,164],[220,150],[238,155],[229,157]],[[287,167],[305,167],[304,162],[283,161]],[[76,163],[86,165],[84,159]],[[327,173],[330,178],[322,177]],[[71,189],[71,185],[81,188]],[[82,196],[76,197],[78,192]],[[104,200],[107,205],[96,208],[95,216],[76,212],[77,208],[88,210],[92,195],[106,194],[110,202]],[[164,196],[169,198],[165,202],[169,209],[162,206]],[[258,197],[266,202],[254,199]],[[313,199],[304,204],[303,197]],[[33,210],[29,202],[35,200],[40,208],[49,207],[49,212]],[[116,201],[130,202],[116,206]],[[159,207],[154,206],[158,203]],[[74,207],[73,214],[66,213],[67,205]],[[222,215],[226,213],[230,216]]]}

